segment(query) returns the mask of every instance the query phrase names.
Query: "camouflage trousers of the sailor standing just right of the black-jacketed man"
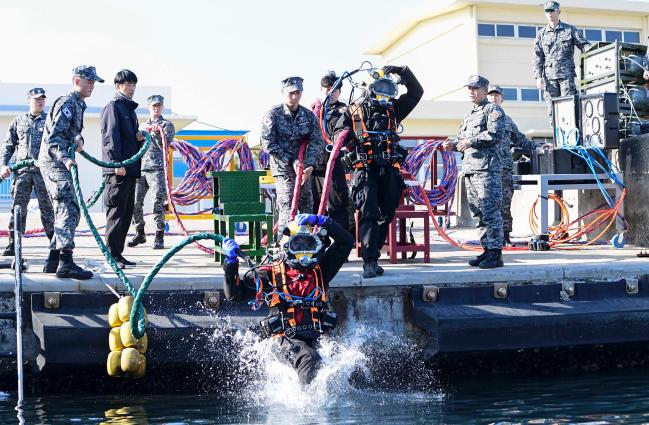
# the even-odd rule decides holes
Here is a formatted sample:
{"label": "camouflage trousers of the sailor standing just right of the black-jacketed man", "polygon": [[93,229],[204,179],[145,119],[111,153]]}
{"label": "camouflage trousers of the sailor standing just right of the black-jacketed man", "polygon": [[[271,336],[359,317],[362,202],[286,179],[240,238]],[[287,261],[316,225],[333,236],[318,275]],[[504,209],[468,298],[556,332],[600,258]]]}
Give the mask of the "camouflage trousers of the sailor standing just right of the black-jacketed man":
{"label": "camouflage trousers of the sailor standing just right of the black-jacketed man", "polygon": [[164,231],[167,186],[163,170],[142,171],[142,177],[135,184],[135,207],[133,225],[138,233],[144,233],[144,198],[151,189],[153,193],[153,221],[156,231]]}

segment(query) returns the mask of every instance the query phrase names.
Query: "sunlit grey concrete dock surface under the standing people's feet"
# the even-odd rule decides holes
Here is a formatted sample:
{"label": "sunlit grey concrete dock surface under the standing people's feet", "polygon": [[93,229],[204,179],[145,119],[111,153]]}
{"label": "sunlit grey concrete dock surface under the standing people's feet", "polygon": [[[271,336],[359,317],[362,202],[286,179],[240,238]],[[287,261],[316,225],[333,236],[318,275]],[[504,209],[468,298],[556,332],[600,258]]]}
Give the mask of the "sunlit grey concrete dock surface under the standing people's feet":
{"label": "sunlit grey concrete dock surface under the standing people's feet", "polygon": [[[150,217],[147,218],[147,220]],[[96,226],[104,224],[102,213],[93,214]],[[8,222],[8,214],[0,214],[0,222]],[[147,222],[148,223],[148,222]],[[178,233],[175,222],[169,222],[170,232]],[[185,225],[190,232],[212,231],[212,224],[206,220],[187,220]],[[148,230],[152,223],[147,224]],[[37,214],[28,216],[27,228],[40,227]],[[87,230],[83,221],[79,230]],[[101,230],[100,230],[101,232]],[[45,237],[26,237],[23,239],[23,256],[29,262],[29,269],[23,275],[25,291],[107,291],[106,284],[120,289],[121,284],[115,273],[105,263],[94,238],[79,236],[75,239],[77,248],[74,257],[77,264],[88,267],[95,272],[95,277],[87,281],[58,279],[54,275],[42,273],[43,262],[48,252],[48,241]],[[412,286],[412,285],[464,285],[493,282],[526,282],[526,281],[561,281],[579,279],[615,280],[620,277],[649,274],[649,258],[637,257],[640,248],[627,246],[614,249],[610,244],[595,245],[579,250],[552,249],[544,252],[506,251],[503,254],[505,267],[493,270],[482,270],[470,267],[467,261],[476,255],[475,252],[455,248],[443,241],[431,231],[431,261],[424,263],[421,252],[414,259],[399,259],[397,264],[390,264],[387,255],[380,261],[385,268],[383,276],[363,279],[362,261],[355,252],[332,282],[333,287],[376,287],[376,286]],[[414,228],[415,240],[421,241],[421,229]],[[476,229],[449,230],[456,240],[475,241]],[[525,242],[530,235],[515,238]],[[130,236],[129,236],[130,239]],[[180,234],[167,235],[165,247],[169,249],[183,240]],[[243,241],[243,239],[241,240]],[[240,241],[240,242],[241,242]],[[124,257],[137,262],[135,268],[125,270],[131,282],[138,286],[151,267],[164,255],[166,250],[153,250],[153,235],[147,236],[147,243],[135,248],[126,248]],[[0,249],[4,249],[6,239],[0,240]],[[213,242],[204,241],[213,247]],[[408,254],[410,256],[410,254]],[[0,261],[8,261],[0,257]],[[223,271],[211,255],[194,246],[187,246],[176,254],[154,279],[150,290],[209,290],[222,287]],[[14,285],[12,270],[0,270],[0,290],[11,291]]]}

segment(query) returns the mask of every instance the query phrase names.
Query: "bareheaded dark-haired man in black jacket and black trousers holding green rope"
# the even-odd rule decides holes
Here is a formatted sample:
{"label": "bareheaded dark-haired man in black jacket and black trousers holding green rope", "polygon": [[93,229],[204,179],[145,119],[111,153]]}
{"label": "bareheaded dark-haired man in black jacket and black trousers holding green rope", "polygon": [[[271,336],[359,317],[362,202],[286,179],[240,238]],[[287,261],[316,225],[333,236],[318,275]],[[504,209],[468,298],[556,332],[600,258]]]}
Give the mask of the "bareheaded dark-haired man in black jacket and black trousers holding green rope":
{"label": "bareheaded dark-haired man in black jacket and black trousers holding green rope", "polygon": [[[137,76],[128,69],[115,75],[117,93],[101,111],[102,158],[119,162],[134,156],[144,137],[138,131],[137,103],[133,101]],[[104,190],[106,206],[106,245],[121,268],[135,266],[122,256],[126,235],[133,217],[135,183],[140,177],[140,161],[128,167],[104,168],[107,176]]]}

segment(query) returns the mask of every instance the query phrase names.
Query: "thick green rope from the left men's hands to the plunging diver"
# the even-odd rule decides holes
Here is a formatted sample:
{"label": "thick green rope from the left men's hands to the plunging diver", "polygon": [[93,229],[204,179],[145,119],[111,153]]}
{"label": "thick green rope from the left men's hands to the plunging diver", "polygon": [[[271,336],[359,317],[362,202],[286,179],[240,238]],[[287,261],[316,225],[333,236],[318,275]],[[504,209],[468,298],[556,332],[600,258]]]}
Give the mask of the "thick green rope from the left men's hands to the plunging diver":
{"label": "thick green rope from the left men's hands to the plunging diver", "polygon": [[[146,143],[144,146],[148,147],[149,143],[151,141],[151,136],[148,133],[143,133],[144,137],[146,138]],[[143,146],[143,148],[144,148]],[[75,145],[72,144],[70,146],[70,149],[68,151],[68,155],[70,156],[70,159],[74,160],[75,158],[75,152],[74,152]],[[122,162],[104,162],[104,161],[99,161],[96,160],[95,158],[91,157],[90,155],[84,155],[83,151],[81,152],[81,155],[86,158],[93,158],[90,160],[94,164],[97,164],[101,167],[107,167],[107,168],[119,168],[119,167],[124,167],[127,165],[132,164],[133,162],[137,161],[139,157],[141,157],[146,149],[140,149],[135,156],[122,161]],[[139,155],[139,157],[138,157]],[[79,203],[79,206],[81,207],[81,211],[83,213],[84,218],[86,219],[86,223],[88,224],[88,227],[90,228],[93,236],[95,237],[95,241],[97,242],[97,245],[99,246],[100,251],[104,255],[104,258],[106,258],[106,261],[108,264],[110,264],[110,267],[113,269],[113,271],[117,274],[117,277],[119,280],[122,282],[122,284],[126,287],[126,290],[131,293],[131,295],[134,296],[134,301],[133,301],[133,308],[131,309],[131,315],[130,315],[130,321],[131,321],[131,333],[133,336],[137,339],[142,338],[144,335],[144,330],[146,327],[146,323],[144,320],[144,309],[142,307],[142,299],[144,298],[144,293],[146,292],[147,288],[153,281],[153,278],[158,274],[160,269],[164,267],[164,265],[173,257],[178,251],[183,249],[185,246],[192,244],[198,240],[202,239],[211,239],[215,241],[216,243],[221,243],[223,242],[223,239],[225,239],[221,235],[217,235],[215,233],[196,233],[193,235],[188,236],[184,240],[180,241],[177,243],[173,248],[171,248],[156,264],[153,266],[151,271],[146,275],[144,278],[144,281],[142,282],[142,285],[140,285],[140,288],[136,291],[133,285],[131,284],[131,281],[126,277],[122,269],[117,265],[117,262],[113,258],[113,256],[110,254],[110,251],[108,251],[108,248],[106,247],[106,244],[104,244],[104,241],[101,239],[99,236],[99,232],[97,231],[97,227],[95,227],[95,224],[92,221],[92,218],[90,217],[90,212],[88,211],[89,206],[86,204],[83,198],[83,193],[81,193],[81,185],[79,184],[79,170],[77,169],[76,165],[73,165],[70,169],[70,172],[72,173],[72,184],[74,186],[74,194],[77,198],[77,202]],[[102,182],[102,185],[100,189],[97,190],[97,193],[95,196],[93,196],[93,199],[91,200],[92,203],[96,202],[97,199],[99,198],[99,194],[103,191],[103,188],[106,185],[106,178],[104,178],[104,181]],[[96,199],[95,199],[96,198]]]}

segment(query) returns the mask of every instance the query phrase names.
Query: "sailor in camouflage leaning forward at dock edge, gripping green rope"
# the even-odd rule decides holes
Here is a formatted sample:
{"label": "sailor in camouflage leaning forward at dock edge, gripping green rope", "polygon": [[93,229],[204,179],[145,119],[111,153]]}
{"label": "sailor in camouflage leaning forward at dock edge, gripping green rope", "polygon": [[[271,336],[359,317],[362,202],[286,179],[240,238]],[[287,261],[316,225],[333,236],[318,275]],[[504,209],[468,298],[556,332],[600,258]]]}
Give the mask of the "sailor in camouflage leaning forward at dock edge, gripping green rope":
{"label": "sailor in camouflage leaning forward at dock edge, gripping green rope", "polygon": [[95,81],[103,83],[104,80],[97,75],[94,66],[88,65],[77,66],[72,75],[72,91],[56,99],[47,114],[38,167],[54,207],[54,237],[50,250],[60,252],[56,276],[83,280],[92,278],[92,272],[77,266],[72,258],[80,210],[70,173],[76,162],[68,156],[68,149],[76,143],[76,151],[83,150],[84,99],[92,95]]}

